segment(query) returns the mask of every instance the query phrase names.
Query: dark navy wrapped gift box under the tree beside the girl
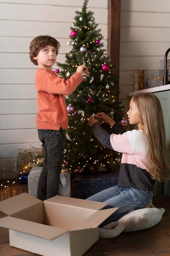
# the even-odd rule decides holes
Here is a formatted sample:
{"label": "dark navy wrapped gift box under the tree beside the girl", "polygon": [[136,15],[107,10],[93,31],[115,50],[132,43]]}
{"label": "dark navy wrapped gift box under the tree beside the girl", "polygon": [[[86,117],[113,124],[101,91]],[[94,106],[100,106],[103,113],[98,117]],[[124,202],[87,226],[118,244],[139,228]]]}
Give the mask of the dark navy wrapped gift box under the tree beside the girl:
{"label": "dark navy wrapped gift box under the tree beside the girl", "polygon": [[76,180],[76,197],[86,199],[104,189],[118,184],[118,171],[78,173]]}

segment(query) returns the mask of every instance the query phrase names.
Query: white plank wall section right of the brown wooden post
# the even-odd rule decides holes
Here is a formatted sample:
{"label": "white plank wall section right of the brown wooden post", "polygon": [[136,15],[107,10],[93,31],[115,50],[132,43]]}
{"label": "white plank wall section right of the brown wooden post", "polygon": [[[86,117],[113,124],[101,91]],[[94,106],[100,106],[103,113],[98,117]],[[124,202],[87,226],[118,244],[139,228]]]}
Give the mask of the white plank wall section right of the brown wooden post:
{"label": "white plank wall section right of the brown wooden post", "polygon": [[120,100],[127,111],[134,74],[143,68],[147,87],[170,48],[170,0],[121,0],[120,23]]}

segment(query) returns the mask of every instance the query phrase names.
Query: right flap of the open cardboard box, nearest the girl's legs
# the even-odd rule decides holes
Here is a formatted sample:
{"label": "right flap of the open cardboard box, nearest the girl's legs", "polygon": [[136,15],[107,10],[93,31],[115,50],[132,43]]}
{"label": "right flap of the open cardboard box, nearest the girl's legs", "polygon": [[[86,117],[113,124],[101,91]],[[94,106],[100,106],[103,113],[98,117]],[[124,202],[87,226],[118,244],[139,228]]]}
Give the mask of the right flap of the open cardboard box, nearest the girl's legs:
{"label": "right flap of the open cardboard box, nearest the girl's legs", "polygon": [[72,230],[89,229],[98,227],[104,220],[106,220],[117,208],[110,208],[95,212],[92,216],[83,221],[80,225],[74,227]]}

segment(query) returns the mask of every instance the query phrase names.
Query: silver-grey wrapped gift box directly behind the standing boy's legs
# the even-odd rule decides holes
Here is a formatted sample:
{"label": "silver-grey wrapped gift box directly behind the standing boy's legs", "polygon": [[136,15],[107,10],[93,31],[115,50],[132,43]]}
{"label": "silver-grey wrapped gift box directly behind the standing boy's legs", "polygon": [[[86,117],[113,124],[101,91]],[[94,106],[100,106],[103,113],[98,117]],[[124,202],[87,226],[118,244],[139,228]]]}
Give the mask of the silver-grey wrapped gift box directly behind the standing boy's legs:
{"label": "silver-grey wrapped gift box directly behind the standing boy's legs", "polygon": [[[41,170],[33,169],[28,175],[28,193],[37,197],[38,180]],[[71,197],[70,173],[60,174],[59,195]]]}

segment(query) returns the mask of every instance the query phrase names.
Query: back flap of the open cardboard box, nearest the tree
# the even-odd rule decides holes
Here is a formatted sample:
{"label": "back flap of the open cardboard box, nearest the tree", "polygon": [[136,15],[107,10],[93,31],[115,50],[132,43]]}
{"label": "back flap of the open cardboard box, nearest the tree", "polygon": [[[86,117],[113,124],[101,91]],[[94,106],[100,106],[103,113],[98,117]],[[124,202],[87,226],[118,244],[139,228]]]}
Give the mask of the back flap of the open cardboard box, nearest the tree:
{"label": "back flap of the open cardboard box, nearest the tree", "polygon": [[94,201],[89,201],[89,200],[84,200],[84,199],[78,199],[78,198],[68,198],[65,196],[60,196],[56,195],[53,198],[47,199],[44,201],[44,204],[46,203],[57,203],[57,204],[64,204],[64,205],[69,205],[82,208],[82,209],[89,209],[89,210],[94,210],[98,211],[105,207],[107,204],[106,203],[101,203],[101,202],[94,202]]}

